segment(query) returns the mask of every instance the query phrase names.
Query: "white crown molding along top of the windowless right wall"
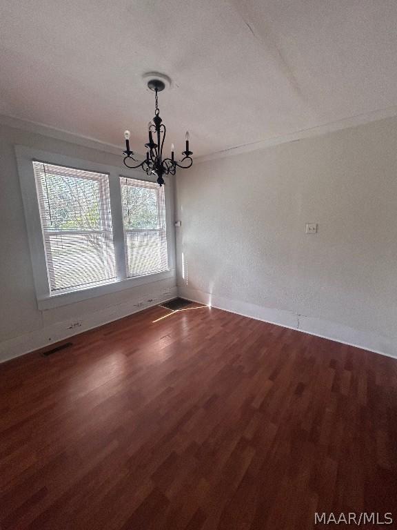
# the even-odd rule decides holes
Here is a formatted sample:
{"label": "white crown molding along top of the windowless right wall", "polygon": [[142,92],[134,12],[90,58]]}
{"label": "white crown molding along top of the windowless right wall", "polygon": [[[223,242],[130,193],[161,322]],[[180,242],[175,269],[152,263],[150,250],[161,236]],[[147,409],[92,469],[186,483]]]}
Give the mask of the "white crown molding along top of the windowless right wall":
{"label": "white crown molding along top of the windowless right wall", "polygon": [[194,159],[195,164],[215,160],[218,158],[231,157],[233,155],[242,155],[243,153],[251,153],[252,151],[265,149],[270,146],[276,146],[278,144],[287,144],[290,141],[298,141],[306,138],[312,138],[327,133],[333,133],[336,130],[347,129],[350,127],[356,127],[370,123],[371,121],[378,121],[380,119],[390,118],[397,116],[397,106],[382,108],[374,110],[372,112],[366,112],[352,116],[349,118],[339,119],[338,121],[332,121],[328,124],[298,130],[294,133],[287,133],[286,135],[276,136],[265,140],[254,141],[251,144],[242,144],[239,146],[230,147],[210,155],[203,155],[202,157],[196,157]]}

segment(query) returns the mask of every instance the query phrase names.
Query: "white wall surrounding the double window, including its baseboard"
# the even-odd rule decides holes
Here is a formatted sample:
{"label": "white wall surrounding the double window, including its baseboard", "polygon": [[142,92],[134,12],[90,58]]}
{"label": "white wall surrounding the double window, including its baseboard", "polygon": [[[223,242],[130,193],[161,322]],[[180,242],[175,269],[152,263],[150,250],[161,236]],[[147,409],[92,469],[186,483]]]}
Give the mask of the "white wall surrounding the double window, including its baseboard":
{"label": "white wall surrounding the double window, including its baseboard", "polygon": [[[85,144],[88,143],[85,141]],[[172,277],[84,302],[39,311],[14,144],[120,166],[123,173],[121,155],[0,125],[0,361],[116,320],[176,295],[176,280]],[[81,321],[81,326],[70,330],[70,324],[77,320]]]}

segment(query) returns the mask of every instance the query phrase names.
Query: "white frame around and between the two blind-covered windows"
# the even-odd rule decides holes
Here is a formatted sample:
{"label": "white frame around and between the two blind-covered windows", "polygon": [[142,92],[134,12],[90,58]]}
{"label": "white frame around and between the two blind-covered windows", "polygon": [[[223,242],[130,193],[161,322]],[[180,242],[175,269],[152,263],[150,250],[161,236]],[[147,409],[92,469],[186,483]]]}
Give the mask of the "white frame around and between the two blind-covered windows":
{"label": "white frame around and between the two blind-covered windows", "polygon": [[[175,277],[175,232],[174,232],[174,188],[173,179],[167,179],[165,186],[165,221],[167,224],[167,256],[168,270],[138,277],[127,277],[125,270],[123,213],[121,206],[120,177],[129,176],[143,181],[155,181],[155,177],[147,176],[141,170],[131,170],[128,175],[121,173],[121,167],[98,164],[89,160],[77,159],[67,155],[48,153],[47,151],[15,146],[19,181],[21,184],[23,207],[25,210],[26,229],[28,231],[30,258],[34,286],[36,290],[37,306],[40,310],[65,306],[74,302],[81,302],[89,298],[123,291],[135,286],[158,282],[161,279]],[[79,168],[96,173],[109,175],[110,205],[112,208],[112,228],[114,240],[114,256],[116,260],[116,280],[83,288],[76,288],[68,292],[50,293],[47,264],[45,262],[45,248],[41,230],[39,202],[37,200],[36,181],[32,162],[43,160],[49,164]]]}

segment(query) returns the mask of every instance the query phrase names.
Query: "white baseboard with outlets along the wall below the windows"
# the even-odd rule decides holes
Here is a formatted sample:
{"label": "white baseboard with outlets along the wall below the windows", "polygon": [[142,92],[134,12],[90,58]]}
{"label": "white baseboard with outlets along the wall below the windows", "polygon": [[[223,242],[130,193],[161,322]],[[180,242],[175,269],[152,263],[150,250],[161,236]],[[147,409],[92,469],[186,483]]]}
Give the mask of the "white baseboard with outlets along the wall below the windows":
{"label": "white baseboard with outlets along the wall below the windows", "polygon": [[103,324],[114,322],[128,315],[133,315],[148,307],[156,306],[167,300],[172,300],[176,297],[176,287],[168,289],[168,292],[163,295],[156,295],[152,300],[147,302],[139,303],[127,302],[118,304],[116,306],[110,306],[102,309],[101,311],[95,311],[85,315],[82,318],[81,326],[70,329],[70,322],[57,322],[51,326],[45,326],[37,331],[32,331],[24,335],[12,337],[8,340],[0,342],[0,363],[25,355],[31,351],[45,348],[49,344],[59,342],[60,340],[68,339],[73,335],[79,335],[83,331],[88,331]]}

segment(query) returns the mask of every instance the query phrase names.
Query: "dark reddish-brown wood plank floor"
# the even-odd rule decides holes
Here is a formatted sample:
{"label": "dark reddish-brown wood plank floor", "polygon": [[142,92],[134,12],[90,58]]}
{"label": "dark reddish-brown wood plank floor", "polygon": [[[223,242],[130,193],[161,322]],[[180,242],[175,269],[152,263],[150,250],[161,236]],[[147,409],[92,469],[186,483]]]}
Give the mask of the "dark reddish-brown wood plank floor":
{"label": "dark reddish-brown wood plank floor", "polygon": [[0,366],[2,530],[397,522],[396,360],[214,308],[167,313]]}

